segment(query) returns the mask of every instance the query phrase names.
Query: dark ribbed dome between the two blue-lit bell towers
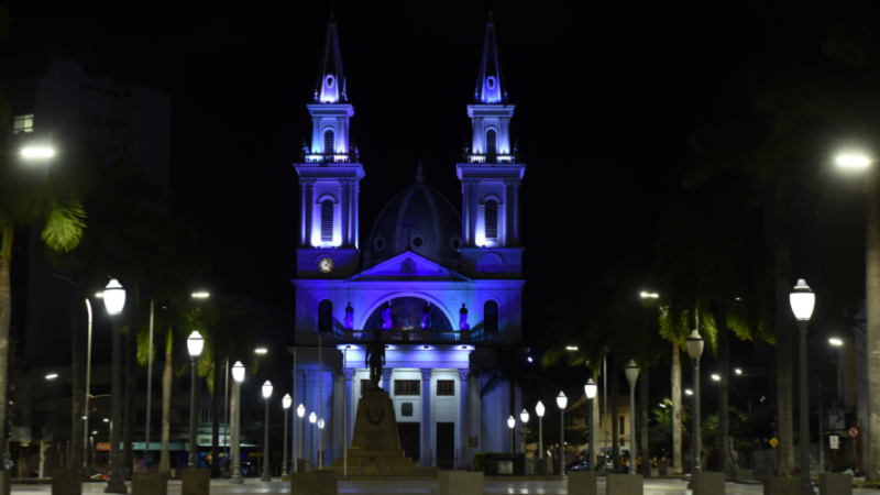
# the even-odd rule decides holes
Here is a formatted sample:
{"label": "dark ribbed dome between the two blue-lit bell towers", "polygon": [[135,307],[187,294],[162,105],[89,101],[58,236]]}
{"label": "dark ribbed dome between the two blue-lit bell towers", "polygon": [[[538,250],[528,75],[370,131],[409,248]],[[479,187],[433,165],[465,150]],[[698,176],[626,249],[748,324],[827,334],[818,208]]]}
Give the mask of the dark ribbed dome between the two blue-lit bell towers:
{"label": "dark ribbed dome between the two blue-lit bell towers", "polygon": [[414,253],[448,268],[461,266],[461,215],[446,196],[425,185],[421,165],[416,184],[388,201],[376,219],[367,241],[365,267],[406,251],[407,230]]}

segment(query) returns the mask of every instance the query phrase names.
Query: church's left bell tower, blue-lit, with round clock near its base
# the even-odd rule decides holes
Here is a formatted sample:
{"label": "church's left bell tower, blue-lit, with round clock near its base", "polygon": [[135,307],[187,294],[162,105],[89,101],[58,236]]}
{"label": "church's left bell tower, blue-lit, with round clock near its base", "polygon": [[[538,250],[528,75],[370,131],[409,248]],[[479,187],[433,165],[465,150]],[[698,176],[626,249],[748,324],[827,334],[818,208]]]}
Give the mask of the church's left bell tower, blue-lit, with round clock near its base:
{"label": "church's left bell tower, blue-lit, with round clock near its base", "polygon": [[358,196],[364,169],[349,139],[354,107],[345,86],[331,13],[315,102],[307,106],[311,143],[302,144],[301,160],[294,164],[300,191],[299,278],[344,278],[359,268]]}

